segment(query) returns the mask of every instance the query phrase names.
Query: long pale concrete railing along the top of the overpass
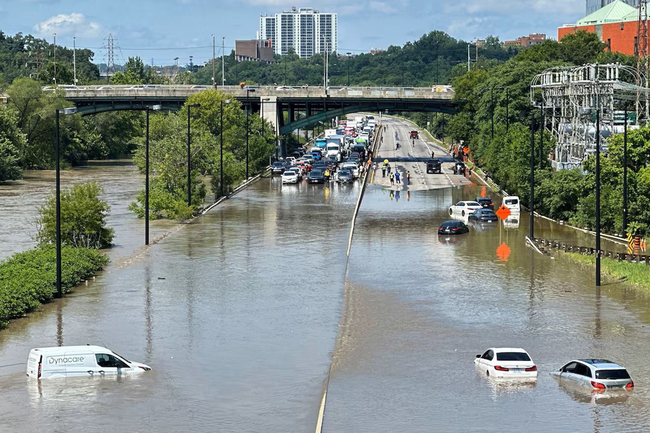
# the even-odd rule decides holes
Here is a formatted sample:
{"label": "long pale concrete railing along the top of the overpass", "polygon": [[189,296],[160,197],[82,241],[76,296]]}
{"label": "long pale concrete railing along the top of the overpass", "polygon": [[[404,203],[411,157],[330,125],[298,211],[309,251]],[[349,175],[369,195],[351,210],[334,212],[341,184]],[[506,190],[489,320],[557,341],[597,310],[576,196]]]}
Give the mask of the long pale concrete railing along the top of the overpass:
{"label": "long pale concrete railing along the top of the overpass", "polygon": [[[60,86],[66,91],[68,98],[97,98],[150,96],[155,97],[187,97],[192,94],[210,90],[210,85],[96,85],[96,86]],[[54,90],[53,86],[45,86],[44,90]],[[246,89],[250,98],[413,98],[413,99],[445,99],[451,100],[454,92],[445,87],[340,87],[330,86],[216,86],[235,98],[246,98]],[[254,92],[251,92],[254,90]]]}

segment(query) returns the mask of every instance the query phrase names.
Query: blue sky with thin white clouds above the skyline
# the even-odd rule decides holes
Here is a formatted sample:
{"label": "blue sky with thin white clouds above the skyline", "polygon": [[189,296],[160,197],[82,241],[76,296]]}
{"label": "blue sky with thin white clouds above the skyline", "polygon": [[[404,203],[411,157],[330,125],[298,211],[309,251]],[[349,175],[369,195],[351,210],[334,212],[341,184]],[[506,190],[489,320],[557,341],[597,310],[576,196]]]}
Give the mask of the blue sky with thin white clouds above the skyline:
{"label": "blue sky with thin white clouds above the skyline", "polygon": [[[105,38],[116,39],[120,64],[140,56],[150,64],[203,64],[217,56],[225,37],[226,53],[235,39],[255,38],[260,14],[313,7],[339,14],[339,53],[403,45],[432,30],[473,40],[488,34],[501,40],[528,33],[557,38],[557,27],[584,16],[584,0],[330,0],[297,3],[284,0],[10,0],[0,1],[0,30],[33,34],[57,45],[96,53],[105,62]],[[119,47],[119,49],[118,49]]]}

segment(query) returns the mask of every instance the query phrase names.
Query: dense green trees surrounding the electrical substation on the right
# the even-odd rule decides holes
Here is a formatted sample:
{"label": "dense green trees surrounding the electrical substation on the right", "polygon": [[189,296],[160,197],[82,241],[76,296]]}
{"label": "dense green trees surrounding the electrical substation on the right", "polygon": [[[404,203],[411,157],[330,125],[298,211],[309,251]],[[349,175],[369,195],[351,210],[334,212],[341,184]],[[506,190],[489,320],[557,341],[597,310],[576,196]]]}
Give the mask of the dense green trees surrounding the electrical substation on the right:
{"label": "dense green trees surrounding the electrical substation on the right", "polygon": [[[580,227],[595,225],[595,164],[593,157],[581,170],[552,171],[548,162],[554,140],[545,133],[539,151],[539,115],[530,105],[530,83],[537,73],[562,64],[587,62],[619,62],[634,65],[636,59],[603,51],[603,43],[595,34],[578,32],[562,39],[547,40],[512,59],[488,70],[465,72],[452,79],[460,112],[455,116],[418,113],[411,118],[432,132],[469,145],[471,157],[489,173],[504,190],[528,202],[530,174],[530,124],[534,124],[534,164],[536,196],[534,206],[543,215],[568,220]],[[506,92],[508,88],[508,123],[506,133]],[[492,89],[492,90],[490,90]],[[492,103],[493,101],[493,103]],[[491,135],[491,114],[494,114],[494,137]],[[629,134],[629,219],[630,230],[638,235],[650,234],[650,128]],[[608,157],[601,159],[601,224],[604,231],[623,233],[623,135],[608,140]],[[543,168],[540,168],[543,166]]]}

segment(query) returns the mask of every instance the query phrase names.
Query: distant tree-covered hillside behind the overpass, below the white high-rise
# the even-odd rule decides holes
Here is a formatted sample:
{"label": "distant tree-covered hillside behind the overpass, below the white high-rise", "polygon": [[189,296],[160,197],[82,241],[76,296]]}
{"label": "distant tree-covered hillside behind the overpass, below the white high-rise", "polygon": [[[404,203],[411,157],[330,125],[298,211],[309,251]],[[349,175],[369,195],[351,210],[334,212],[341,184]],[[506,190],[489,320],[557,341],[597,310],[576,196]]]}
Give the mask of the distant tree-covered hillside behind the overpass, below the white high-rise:
{"label": "distant tree-covered hillside behind the overpass, below the white high-rise", "polygon": [[[478,65],[486,68],[506,60],[521,47],[503,47],[488,36],[480,47]],[[474,57],[474,53],[472,53]],[[221,59],[216,60],[216,83],[221,83]],[[324,57],[300,59],[295,53],[276,56],[274,62],[237,62],[234,52],[224,59],[227,85],[240,82],[259,85],[323,85]],[[467,42],[442,31],[432,31],[404,46],[389,46],[378,53],[332,53],[328,60],[330,86],[431,86],[448,84],[454,73],[467,70]],[[474,64],[472,65],[474,68]],[[194,75],[196,84],[212,83],[212,62]],[[349,78],[348,78],[349,75]]]}

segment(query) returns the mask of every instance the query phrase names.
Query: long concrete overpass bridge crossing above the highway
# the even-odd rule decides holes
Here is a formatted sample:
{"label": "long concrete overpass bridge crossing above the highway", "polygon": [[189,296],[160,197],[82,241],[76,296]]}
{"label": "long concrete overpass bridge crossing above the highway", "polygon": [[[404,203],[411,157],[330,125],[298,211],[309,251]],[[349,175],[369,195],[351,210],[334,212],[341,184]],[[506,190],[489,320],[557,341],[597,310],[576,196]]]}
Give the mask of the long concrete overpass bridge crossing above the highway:
{"label": "long concrete overpass bridge crossing above the highway", "polygon": [[[188,96],[213,86],[99,85],[64,86],[66,99],[82,115],[105,111],[144,109],[160,104],[180,109]],[[359,111],[430,111],[456,113],[454,92],[448,87],[314,87],[314,86],[216,86],[241,102],[248,101],[275,125],[276,134],[309,129],[320,121]],[[254,90],[254,92],[253,92]]]}

